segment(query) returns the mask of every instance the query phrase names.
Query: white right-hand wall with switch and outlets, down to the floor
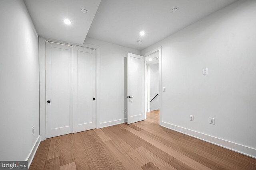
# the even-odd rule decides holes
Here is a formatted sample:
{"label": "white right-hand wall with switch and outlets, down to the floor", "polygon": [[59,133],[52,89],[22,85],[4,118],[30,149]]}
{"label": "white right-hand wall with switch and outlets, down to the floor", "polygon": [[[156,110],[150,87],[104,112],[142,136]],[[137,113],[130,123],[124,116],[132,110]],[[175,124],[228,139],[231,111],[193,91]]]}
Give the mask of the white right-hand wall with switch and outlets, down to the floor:
{"label": "white right-hand wall with switch and outlets, down to the floor", "polygon": [[256,157],[255,16],[240,0],[142,51],[162,46],[163,125]]}

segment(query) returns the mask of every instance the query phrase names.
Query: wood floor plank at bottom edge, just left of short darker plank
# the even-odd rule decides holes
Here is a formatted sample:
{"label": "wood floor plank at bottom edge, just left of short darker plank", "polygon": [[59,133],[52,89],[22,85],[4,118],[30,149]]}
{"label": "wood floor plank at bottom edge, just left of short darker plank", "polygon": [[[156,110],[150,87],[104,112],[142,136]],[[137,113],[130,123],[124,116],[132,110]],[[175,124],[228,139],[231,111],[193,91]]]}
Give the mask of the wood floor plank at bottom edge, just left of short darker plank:
{"label": "wood floor plank at bottom edge, just left of short darker plank", "polygon": [[142,170],[140,166],[132,160],[116,143],[111,141],[106,141],[105,145],[113,152],[113,154],[118,158],[118,160],[121,162],[121,164],[124,166],[124,168],[128,170]]}

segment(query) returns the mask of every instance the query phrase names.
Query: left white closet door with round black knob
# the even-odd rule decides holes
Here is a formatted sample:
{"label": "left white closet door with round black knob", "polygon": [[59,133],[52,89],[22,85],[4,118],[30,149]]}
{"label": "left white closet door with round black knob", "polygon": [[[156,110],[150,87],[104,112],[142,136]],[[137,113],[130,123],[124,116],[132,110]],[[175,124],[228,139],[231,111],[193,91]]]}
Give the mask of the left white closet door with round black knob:
{"label": "left white closet door with round black knob", "polygon": [[46,42],[46,138],[73,132],[72,47]]}

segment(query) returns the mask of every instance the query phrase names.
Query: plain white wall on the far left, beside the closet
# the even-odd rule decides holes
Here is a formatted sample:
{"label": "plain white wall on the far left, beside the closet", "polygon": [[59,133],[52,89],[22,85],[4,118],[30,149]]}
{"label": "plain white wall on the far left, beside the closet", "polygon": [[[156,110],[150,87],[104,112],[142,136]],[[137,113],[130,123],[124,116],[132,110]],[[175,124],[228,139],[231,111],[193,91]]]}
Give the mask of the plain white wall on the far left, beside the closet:
{"label": "plain white wall on the far left, beside the closet", "polygon": [[26,160],[39,136],[38,35],[22,0],[0,1],[0,23],[0,160]]}

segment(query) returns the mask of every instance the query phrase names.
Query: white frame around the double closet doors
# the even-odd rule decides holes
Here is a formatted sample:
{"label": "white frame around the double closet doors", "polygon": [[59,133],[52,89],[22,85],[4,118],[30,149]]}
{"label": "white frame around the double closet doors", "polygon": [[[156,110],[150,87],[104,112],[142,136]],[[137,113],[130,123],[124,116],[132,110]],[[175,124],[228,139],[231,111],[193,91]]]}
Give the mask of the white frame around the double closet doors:
{"label": "white frame around the double closet doors", "polygon": [[39,123],[40,139],[46,139],[46,88],[45,88],[45,61],[46,61],[46,41],[68,46],[78,46],[96,51],[96,128],[100,128],[100,46],[84,43],[70,44],[64,41],[46,39],[39,37]]}

